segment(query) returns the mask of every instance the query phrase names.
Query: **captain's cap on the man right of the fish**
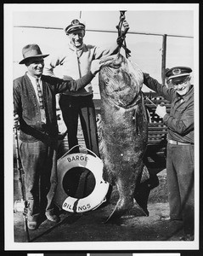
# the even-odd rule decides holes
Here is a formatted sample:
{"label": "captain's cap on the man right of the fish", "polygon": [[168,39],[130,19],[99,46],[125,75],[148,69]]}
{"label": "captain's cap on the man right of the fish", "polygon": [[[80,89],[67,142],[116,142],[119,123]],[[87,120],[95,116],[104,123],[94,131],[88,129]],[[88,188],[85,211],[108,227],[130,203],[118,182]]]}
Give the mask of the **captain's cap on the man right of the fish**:
{"label": "captain's cap on the man right of the fish", "polygon": [[192,72],[190,67],[172,67],[170,69],[166,69],[166,79],[179,79],[182,80],[186,76],[189,76],[189,73]]}

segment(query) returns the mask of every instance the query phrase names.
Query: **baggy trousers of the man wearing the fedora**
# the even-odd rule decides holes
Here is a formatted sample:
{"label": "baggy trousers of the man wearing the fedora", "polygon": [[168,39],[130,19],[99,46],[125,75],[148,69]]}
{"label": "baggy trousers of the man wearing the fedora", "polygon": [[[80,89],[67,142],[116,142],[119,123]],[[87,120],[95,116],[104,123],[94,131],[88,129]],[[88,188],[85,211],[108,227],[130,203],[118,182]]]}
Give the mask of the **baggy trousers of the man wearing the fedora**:
{"label": "baggy trousers of the man wearing the fedora", "polygon": [[53,211],[57,185],[57,143],[50,146],[37,141],[20,142],[20,160],[25,172],[25,197],[28,215],[38,216]]}

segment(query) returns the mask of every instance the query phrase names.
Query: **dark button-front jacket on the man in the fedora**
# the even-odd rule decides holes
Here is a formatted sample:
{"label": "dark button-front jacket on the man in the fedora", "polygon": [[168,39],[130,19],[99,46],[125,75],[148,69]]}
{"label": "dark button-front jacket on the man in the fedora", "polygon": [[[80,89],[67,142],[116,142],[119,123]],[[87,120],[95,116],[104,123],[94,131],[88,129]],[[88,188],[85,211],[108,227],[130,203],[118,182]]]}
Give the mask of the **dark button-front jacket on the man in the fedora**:
{"label": "dark button-front jacket on the man in the fedora", "polygon": [[55,95],[80,90],[89,84],[93,77],[93,73],[89,72],[82,79],[65,81],[42,75],[46,125],[41,122],[37,95],[31,80],[26,74],[14,79],[14,113],[20,116],[20,140],[24,142],[41,140],[46,143],[50,138],[58,137]]}

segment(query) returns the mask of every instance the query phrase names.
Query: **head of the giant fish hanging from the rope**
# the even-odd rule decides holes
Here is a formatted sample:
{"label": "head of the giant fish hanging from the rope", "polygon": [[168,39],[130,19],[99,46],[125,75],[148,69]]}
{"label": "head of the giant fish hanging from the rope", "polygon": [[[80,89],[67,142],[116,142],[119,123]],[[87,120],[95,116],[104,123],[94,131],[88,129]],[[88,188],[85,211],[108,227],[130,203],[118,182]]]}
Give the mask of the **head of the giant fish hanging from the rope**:
{"label": "head of the giant fish hanging from the rope", "polygon": [[132,107],[142,89],[142,71],[121,54],[110,55],[101,63],[104,63],[99,71],[101,96],[121,108]]}

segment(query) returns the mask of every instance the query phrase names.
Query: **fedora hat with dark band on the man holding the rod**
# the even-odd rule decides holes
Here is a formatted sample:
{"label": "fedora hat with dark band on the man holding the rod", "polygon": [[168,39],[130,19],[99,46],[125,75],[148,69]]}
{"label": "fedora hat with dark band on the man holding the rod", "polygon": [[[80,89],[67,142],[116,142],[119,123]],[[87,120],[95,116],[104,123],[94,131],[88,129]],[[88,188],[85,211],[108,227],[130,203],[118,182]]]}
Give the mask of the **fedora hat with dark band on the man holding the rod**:
{"label": "fedora hat with dark band on the man holding the rod", "polygon": [[19,64],[25,64],[25,62],[31,58],[37,57],[47,57],[48,55],[42,55],[42,51],[37,44],[27,44],[22,49],[23,60]]}

